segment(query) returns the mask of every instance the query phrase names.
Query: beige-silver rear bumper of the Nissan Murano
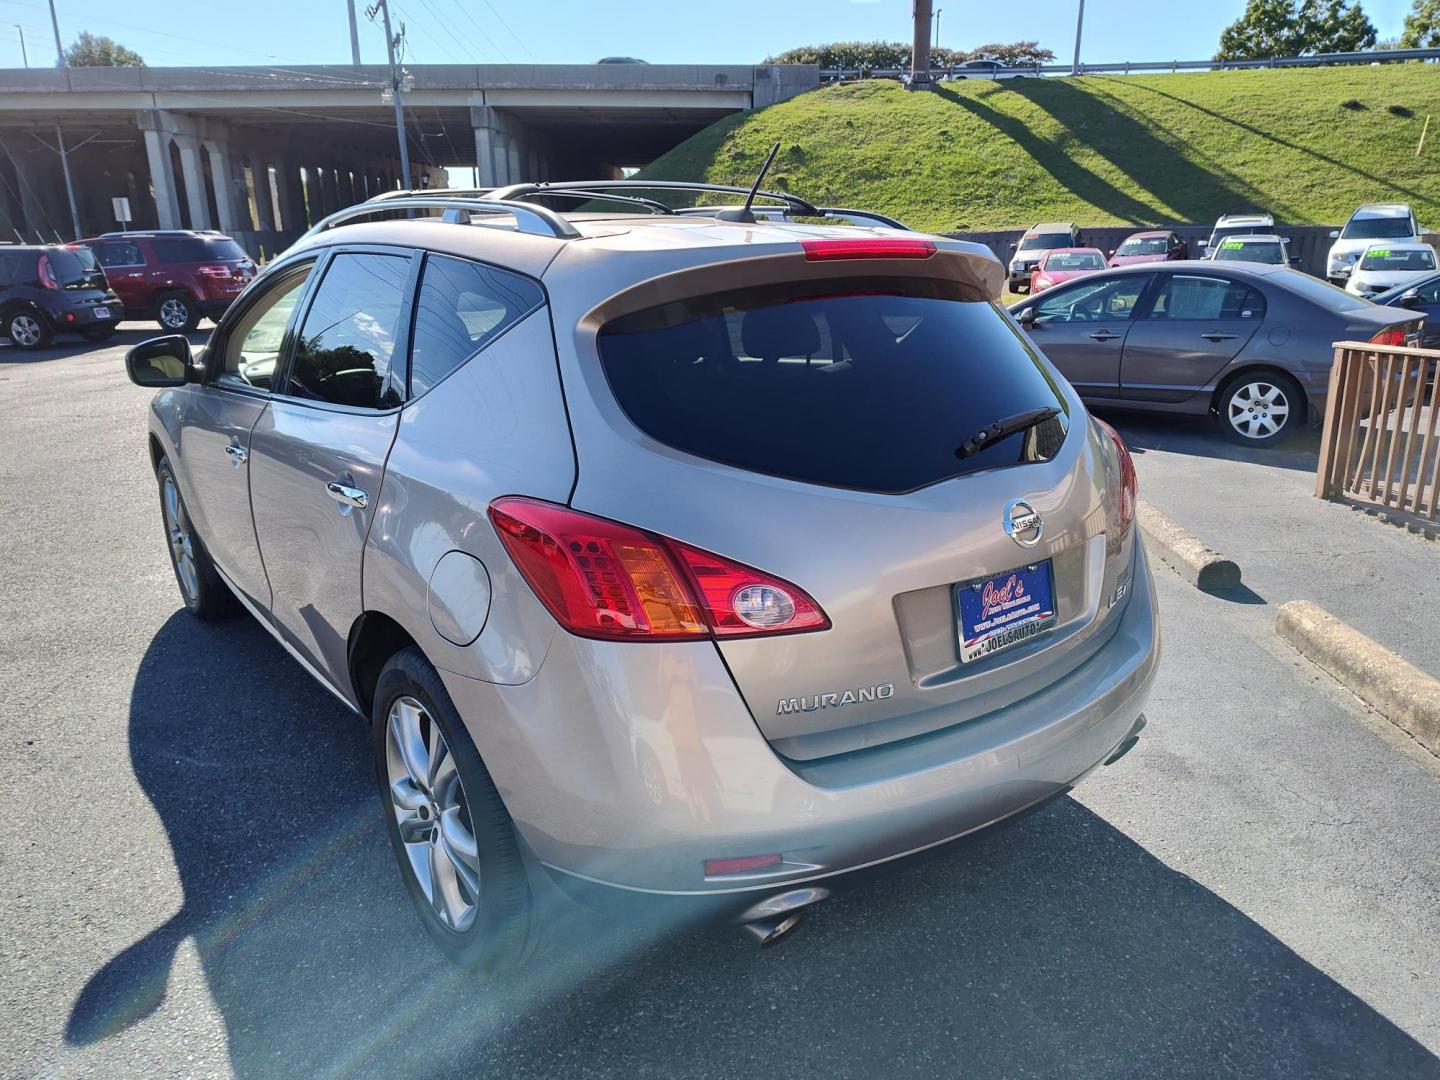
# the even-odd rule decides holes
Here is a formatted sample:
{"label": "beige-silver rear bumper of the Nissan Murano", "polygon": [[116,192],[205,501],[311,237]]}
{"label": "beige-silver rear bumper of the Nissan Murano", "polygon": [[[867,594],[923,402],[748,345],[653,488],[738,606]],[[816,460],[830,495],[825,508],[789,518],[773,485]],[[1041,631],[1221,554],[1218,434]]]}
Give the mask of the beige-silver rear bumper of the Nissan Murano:
{"label": "beige-silver rear bumper of the Nissan Murano", "polygon": [[[1138,732],[1159,658],[1153,589],[1110,641],[1031,697],[929,736],[788,762],[708,642],[557,634],[540,672],[501,687],[442,672],[534,855],[560,878],[734,909],[829,887],[1064,793]],[[706,860],[780,854],[707,877]]]}

